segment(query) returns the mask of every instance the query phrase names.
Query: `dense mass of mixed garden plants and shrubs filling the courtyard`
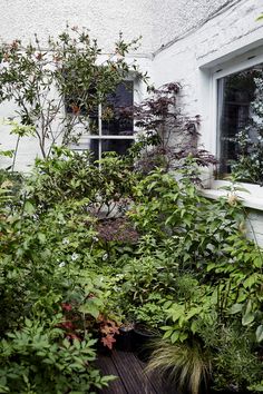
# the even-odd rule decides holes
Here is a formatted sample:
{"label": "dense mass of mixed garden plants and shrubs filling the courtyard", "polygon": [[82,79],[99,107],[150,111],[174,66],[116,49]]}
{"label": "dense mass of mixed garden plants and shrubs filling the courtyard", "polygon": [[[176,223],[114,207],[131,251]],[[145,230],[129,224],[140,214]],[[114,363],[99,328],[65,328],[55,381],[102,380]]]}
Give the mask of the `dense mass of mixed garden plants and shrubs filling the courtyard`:
{"label": "dense mass of mixed garden plants and shrubs filling the courtyard", "polygon": [[[46,69],[36,61],[25,67],[37,81]],[[199,168],[214,158],[196,144],[166,146],[175,128],[197,138],[198,118],[172,108],[179,91],[165,86],[127,109],[146,132],[126,156],[98,164],[52,146],[29,176],[0,173],[0,393],[96,393],[114,378],[97,354],[127,322],[157,333],[147,368],[176,392],[263,391],[263,252],[233,190],[202,197]],[[36,126],[30,92],[20,115]]]}

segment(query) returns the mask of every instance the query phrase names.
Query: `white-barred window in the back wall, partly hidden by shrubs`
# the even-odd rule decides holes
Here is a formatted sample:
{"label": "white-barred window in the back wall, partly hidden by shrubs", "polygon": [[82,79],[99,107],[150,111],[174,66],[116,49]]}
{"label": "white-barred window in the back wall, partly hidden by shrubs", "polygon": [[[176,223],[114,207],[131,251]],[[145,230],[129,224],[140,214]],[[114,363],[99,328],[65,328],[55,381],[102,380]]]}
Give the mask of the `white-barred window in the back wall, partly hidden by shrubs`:
{"label": "white-barred window in the back wall, partly hidden by shrubs", "polygon": [[[95,160],[101,158],[106,151],[116,151],[125,155],[135,139],[134,121],[126,115],[125,108],[134,105],[134,81],[125,80],[120,82],[115,92],[108,95],[104,105],[99,105],[92,111],[80,109],[80,116],[86,118],[87,127],[80,128],[80,137],[77,144],[71,144],[74,150],[90,149]],[[66,110],[72,111],[70,100]],[[76,132],[78,134],[78,127]]]}

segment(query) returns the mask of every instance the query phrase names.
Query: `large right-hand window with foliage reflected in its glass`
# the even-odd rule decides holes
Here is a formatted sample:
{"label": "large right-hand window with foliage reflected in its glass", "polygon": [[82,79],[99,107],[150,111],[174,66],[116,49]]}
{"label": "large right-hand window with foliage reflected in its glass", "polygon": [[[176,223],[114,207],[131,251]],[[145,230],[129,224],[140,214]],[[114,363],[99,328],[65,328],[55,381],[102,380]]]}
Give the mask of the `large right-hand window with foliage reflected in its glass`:
{"label": "large right-hand window with foliage reflected in its glass", "polygon": [[263,59],[249,57],[214,73],[220,178],[232,171],[263,185]]}

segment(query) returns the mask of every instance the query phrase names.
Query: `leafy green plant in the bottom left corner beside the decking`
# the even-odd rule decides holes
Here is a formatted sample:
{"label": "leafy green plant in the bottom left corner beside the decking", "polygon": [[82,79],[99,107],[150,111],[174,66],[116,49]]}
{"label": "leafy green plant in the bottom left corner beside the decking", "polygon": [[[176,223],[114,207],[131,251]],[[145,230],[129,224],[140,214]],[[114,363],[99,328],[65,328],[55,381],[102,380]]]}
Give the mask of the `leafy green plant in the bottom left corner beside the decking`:
{"label": "leafy green plant in the bottom left corner beside the decking", "polygon": [[111,376],[101,377],[91,365],[96,341],[70,342],[62,334],[56,325],[29,319],[21,331],[7,333],[0,343],[1,393],[87,393],[107,385]]}

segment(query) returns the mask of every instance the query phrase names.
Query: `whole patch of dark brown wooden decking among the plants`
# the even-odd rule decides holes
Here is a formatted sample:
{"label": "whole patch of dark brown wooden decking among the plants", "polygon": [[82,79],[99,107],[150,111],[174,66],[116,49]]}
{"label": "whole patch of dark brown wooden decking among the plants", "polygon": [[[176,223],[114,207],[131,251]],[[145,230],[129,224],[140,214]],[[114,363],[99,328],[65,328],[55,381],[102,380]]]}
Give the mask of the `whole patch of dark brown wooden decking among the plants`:
{"label": "whole patch of dark brown wooden decking among the plants", "polygon": [[146,364],[134,353],[113,351],[111,355],[99,355],[96,364],[105,375],[118,376],[100,394],[172,394],[164,390],[158,374],[145,372]]}

